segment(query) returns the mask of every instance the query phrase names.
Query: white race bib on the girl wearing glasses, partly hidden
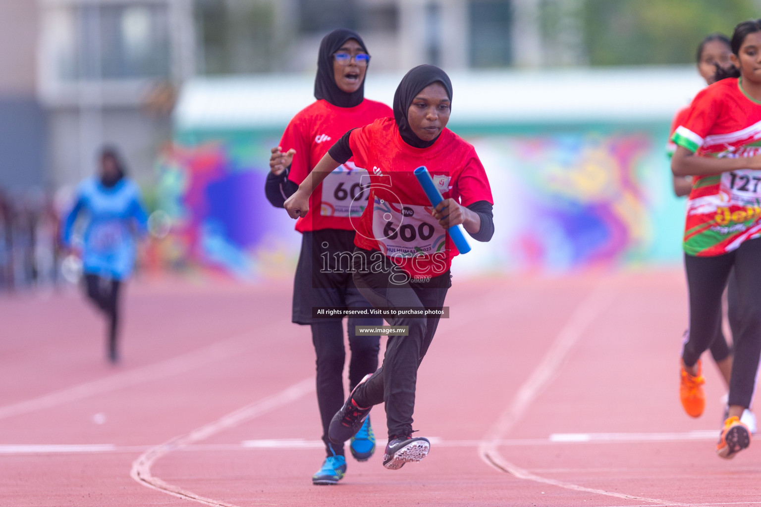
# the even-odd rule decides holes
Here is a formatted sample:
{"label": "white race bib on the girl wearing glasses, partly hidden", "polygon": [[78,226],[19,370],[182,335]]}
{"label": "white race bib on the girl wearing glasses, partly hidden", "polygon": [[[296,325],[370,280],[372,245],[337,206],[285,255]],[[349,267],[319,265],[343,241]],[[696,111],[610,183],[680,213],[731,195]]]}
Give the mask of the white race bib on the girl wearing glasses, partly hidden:
{"label": "white race bib on the girl wearing glasses, partly hidden", "polygon": [[370,190],[362,185],[361,177],[367,181],[368,172],[352,162],[342,164],[323,179],[323,217],[358,217],[368,205]]}

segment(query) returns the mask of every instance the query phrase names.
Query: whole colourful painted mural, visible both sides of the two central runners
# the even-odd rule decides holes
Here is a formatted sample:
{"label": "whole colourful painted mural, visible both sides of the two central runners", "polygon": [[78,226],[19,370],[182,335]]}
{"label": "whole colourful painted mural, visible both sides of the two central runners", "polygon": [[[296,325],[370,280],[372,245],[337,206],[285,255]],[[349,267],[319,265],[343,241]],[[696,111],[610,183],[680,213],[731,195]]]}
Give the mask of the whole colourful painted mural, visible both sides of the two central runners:
{"label": "whole colourful painted mural, visible both sides of the two central runners", "polygon": [[[665,132],[551,128],[463,134],[486,166],[495,237],[457,260],[463,274],[559,272],[680,259],[683,203],[670,191]],[[242,280],[289,274],[300,241],[263,187],[274,133],[186,135],[158,161],[167,254]]]}

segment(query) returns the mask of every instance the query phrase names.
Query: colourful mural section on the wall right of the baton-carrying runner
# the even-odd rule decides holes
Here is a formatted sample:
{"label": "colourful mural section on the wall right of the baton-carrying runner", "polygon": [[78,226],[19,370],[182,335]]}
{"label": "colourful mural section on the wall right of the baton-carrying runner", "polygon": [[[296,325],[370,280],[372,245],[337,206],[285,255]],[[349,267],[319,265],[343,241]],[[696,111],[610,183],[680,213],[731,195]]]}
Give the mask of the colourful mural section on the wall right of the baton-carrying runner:
{"label": "colourful mural section on the wall right of the baton-carrying runner", "polygon": [[678,261],[683,204],[671,194],[661,139],[583,130],[470,138],[492,183],[497,231],[477,265],[567,271]]}

